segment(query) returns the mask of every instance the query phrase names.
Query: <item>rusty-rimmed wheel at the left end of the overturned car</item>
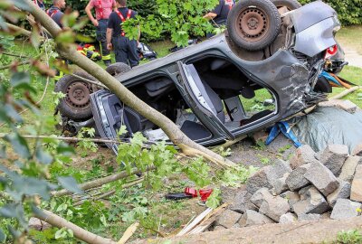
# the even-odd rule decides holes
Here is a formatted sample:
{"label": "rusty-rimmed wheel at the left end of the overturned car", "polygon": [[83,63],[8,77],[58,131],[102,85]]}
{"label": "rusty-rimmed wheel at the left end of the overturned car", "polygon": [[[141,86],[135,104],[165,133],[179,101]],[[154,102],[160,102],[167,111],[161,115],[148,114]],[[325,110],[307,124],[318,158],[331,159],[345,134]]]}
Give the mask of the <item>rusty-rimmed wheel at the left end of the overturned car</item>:
{"label": "rusty-rimmed wheel at the left end of the overturned car", "polygon": [[[74,74],[87,80],[97,81],[83,70],[75,71]],[[90,83],[72,75],[65,75],[56,82],[54,91],[65,95],[58,104],[62,116],[74,121],[82,121],[92,116],[90,94],[95,91],[95,88]]]}

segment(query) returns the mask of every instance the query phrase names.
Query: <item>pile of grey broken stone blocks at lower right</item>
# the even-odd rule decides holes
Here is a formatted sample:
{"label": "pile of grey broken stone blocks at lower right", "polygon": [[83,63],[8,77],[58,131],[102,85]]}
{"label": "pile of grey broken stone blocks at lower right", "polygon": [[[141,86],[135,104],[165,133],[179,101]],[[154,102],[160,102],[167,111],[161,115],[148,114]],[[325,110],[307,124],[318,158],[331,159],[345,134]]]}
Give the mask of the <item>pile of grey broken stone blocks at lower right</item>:
{"label": "pile of grey broken stone blocks at lower right", "polygon": [[243,190],[223,200],[233,204],[214,230],[355,217],[362,202],[362,145],[351,155],[346,145],[328,145],[319,153],[303,145],[289,162],[277,160],[263,167]]}

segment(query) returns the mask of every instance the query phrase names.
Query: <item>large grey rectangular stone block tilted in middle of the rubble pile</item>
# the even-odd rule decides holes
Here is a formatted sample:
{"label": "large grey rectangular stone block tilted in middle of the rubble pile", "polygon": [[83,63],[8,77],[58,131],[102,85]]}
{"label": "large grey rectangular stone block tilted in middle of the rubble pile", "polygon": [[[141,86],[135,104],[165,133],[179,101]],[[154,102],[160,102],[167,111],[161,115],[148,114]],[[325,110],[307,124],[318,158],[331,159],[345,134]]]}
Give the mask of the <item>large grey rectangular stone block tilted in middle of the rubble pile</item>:
{"label": "large grey rectangular stone block tilted in middle of the rubble pile", "polygon": [[339,185],[336,176],[332,174],[325,165],[319,162],[310,164],[304,177],[325,196],[336,191]]}

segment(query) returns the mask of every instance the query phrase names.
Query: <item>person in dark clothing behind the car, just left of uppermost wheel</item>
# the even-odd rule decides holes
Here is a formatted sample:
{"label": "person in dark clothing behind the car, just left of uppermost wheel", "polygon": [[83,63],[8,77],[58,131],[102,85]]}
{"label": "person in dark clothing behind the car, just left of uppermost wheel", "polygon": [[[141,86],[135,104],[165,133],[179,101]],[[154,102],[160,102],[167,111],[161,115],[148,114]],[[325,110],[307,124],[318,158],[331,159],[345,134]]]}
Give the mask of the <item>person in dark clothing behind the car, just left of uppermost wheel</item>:
{"label": "person in dark clothing behind the car, just left of uppermost wheel", "polygon": [[[226,25],[227,15],[235,4],[234,0],[219,0],[219,4],[212,11],[204,15],[205,19],[211,20],[215,27]],[[206,37],[212,37],[213,33],[206,33]]]}

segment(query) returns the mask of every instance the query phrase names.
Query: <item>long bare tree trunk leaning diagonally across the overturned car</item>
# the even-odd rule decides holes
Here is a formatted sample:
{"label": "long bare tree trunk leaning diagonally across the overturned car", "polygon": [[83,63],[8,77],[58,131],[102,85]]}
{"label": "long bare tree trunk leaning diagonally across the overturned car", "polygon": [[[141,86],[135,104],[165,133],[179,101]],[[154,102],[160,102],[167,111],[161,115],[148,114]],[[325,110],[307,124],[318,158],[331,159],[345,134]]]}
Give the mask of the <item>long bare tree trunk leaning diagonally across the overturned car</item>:
{"label": "long bare tree trunk leaning diagonally across the overturned car", "polygon": [[[58,36],[62,32],[62,29],[52,21],[52,18],[45,14],[37,5],[34,5],[31,0],[25,0],[30,6],[30,14],[33,14],[35,19],[43,25],[43,27],[49,31],[53,37]],[[230,167],[234,166],[233,162],[224,159],[223,156],[214,153],[213,151],[205,148],[202,145],[196,144],[190,138],[188,138],[168,117],[158,112],[156,109],[151,108],[138,99],[133,93],[123,86],[119,80],[112,77],[106,70],[103,70],[98,64],[90,61],[87,57],[77,52],[74,45],[65,45],[57,43],[57,52],[74,64],[86,70],[97,80],[100,80],[111,92],[113,92],[122,102],[124,102],[129,108],[133,108],[138,111],[144,117],[147,117],[151,122],[160,127],[166,135],[177,145],[186,155],[202,155],[205,159],[219,164],[220,166]]]}

